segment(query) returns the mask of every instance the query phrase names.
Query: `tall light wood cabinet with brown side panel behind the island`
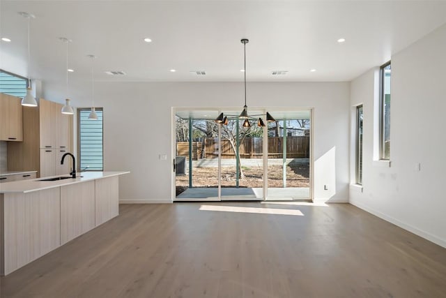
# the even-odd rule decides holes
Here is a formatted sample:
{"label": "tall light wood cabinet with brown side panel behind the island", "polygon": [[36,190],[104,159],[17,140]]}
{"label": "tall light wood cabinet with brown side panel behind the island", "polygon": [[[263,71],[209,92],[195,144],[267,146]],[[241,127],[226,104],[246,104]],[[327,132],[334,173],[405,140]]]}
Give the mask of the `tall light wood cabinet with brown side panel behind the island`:
{"label": "tall light wood cabinet with brown side panel behind the island", "polygon": [[8,170],[38,170],[38,177],[68,174],[72,150],[72,115],[63,105],[40,98],[38,107],[23,107],[23,142],[8,142]]}

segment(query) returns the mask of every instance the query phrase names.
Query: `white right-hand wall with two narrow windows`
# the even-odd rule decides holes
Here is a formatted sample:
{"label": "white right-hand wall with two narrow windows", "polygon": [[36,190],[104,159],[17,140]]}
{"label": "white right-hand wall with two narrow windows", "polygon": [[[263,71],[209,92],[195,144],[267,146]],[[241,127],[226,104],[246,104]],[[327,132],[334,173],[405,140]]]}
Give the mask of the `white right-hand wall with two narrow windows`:
{"label": "white right-hand wall with two narrow windows", "polygon": [[[355,187],[350,191],[350,202],[357,207],[444,247],[445,53],[446,25],[392,56],[391,167],[373,163],[373,149],[378,142],[374,137],[377,70],[353,80],[351,109],[364,105],[363,193]],[[354,138],[351,148],[353,142]]]}

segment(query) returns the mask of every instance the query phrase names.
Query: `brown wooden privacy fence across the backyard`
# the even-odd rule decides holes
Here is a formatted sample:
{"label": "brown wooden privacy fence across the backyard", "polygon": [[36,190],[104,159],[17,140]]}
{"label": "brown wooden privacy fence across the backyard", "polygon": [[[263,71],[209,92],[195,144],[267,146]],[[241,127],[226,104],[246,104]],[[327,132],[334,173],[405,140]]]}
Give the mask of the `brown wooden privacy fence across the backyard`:
{"label": "brown wooden privacy fence across the backyard", "polygon": [[[176,143],[177,156],[189,156],[189,142]],[[246,137],[240,142],[241,158],[261,158],[263,156],[263,138]],[[268,158],[283,158],[284,138],[268,137]],[[192,159],[216,158],[218,142],[214,138],[205,138],[204,142],[192,142]],[[286,137],[286,158],[309,158],[309,136]],[[222,158],[236,158],[229,140],[222,140]]]}

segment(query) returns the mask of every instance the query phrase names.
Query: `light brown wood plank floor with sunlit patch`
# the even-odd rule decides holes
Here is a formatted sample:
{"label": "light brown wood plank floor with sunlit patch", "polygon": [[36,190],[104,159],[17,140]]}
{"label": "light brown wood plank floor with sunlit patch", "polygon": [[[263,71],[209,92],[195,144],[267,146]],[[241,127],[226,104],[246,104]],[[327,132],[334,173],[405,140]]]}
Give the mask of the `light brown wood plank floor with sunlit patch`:
{"label": "light brown wood plank floor with sunlit patch", "polygon": [[1,278],[1,297],[446,297],[445,248],[350,204],[120,214]]}

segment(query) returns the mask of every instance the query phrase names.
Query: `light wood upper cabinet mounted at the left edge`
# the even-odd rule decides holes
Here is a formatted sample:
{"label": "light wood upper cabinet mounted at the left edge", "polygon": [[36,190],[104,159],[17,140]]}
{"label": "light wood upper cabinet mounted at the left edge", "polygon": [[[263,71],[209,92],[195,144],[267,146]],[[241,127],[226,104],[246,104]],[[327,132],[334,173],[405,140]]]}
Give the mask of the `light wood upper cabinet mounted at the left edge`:
{"label": "light wood upper cabinet mounted at the left edge", "polygon": [[23,140],[21,99],[0,93],[0,140]]}

